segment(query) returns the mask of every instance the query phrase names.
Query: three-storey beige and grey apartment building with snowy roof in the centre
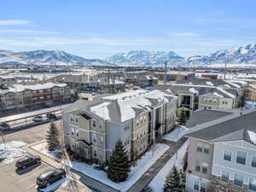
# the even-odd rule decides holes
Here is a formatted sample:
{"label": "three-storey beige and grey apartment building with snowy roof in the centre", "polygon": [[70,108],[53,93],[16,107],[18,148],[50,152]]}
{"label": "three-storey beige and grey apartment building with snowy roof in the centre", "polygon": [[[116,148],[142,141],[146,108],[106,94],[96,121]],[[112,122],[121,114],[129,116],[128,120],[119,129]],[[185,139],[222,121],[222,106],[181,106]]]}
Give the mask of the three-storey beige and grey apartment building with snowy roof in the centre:
{"label": "three-storey beige and grey apartment building with snowy roof in the centre", "polygon": [[[120,139],[137,159],[176,122],[177,97],[160,90],[131,90],[63,109],[64,140],[86,160],[108,162]],[[166,125],[168,123],[168,125]]]}

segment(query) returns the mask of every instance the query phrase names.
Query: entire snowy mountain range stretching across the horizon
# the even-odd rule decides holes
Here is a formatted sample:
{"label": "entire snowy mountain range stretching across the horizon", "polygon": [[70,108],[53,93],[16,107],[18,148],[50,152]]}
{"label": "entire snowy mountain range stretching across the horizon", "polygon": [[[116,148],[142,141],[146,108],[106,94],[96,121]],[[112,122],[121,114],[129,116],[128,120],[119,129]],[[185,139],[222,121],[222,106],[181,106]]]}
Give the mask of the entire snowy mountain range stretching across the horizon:
{"label": "entire snowy mountain range stretching across the horizon", "polygon": [[68,54],[61,50],[33,50],[14,52],[0,50],[0,64],[29,64],[29,65],[79,65],[79,66],[211,66],[212,64],[241,64],[255,65],[256,44],[247,44],[237,49],[218,50],[211,55],[194,55],[184,58],[173,51],[131,50],[118,53],[107,59],[85,59],[84,57]]}

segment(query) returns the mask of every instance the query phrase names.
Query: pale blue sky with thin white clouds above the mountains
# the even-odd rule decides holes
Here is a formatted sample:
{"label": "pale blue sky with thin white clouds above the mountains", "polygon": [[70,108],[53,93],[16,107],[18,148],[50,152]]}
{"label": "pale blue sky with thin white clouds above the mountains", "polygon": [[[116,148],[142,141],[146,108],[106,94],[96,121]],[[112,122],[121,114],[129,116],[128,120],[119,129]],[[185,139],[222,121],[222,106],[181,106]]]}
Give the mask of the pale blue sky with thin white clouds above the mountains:
{"label": "pale blue sky with thin white clouds above the mountains", "polygon": [[0,49],[208,55],[256,43],[255,7],[255,0],[4,0]]}

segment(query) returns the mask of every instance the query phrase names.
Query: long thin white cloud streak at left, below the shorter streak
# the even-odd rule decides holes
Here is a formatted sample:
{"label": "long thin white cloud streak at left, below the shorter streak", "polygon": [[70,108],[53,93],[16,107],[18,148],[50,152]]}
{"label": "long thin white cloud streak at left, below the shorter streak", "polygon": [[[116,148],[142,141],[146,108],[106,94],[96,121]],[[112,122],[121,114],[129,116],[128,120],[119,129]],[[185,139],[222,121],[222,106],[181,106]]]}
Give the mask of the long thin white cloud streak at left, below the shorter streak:
{"label": "long thin white cloud streak at left, below the shorter streak", "polygon": [[21,34],[21,35],[44,35],[58,34],[59,32],[38,31],[38,30],[23,30],[23,29],[0,29],[0,34]]}

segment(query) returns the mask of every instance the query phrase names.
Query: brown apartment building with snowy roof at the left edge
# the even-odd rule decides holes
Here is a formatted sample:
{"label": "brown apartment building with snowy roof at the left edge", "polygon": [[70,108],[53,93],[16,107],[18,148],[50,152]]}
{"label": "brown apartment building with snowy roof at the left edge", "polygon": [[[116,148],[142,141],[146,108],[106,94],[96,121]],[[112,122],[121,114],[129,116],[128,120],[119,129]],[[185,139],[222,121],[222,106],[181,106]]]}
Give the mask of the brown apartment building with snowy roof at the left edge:
{"label": "brown apartment building with snowy roof at the left edge", "polygon": [[67,84],[13,84],[0,87],[0,110],[32,110],[72,102]]}

